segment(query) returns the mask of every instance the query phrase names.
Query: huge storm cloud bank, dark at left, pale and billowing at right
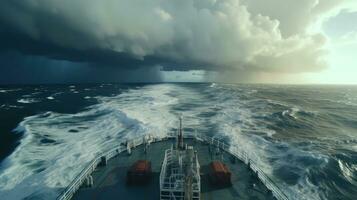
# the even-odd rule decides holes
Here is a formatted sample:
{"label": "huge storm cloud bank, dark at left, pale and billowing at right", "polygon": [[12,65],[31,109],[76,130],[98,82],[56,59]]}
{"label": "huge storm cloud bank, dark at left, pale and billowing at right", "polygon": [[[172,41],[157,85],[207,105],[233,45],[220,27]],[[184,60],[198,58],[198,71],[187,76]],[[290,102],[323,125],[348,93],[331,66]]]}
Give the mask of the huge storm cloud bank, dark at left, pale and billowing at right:
{"label": "huge storm cloud bank, dark at left, pale and billowing at right", "polygon": [[[343,0],[2,0],[2,50],[121,68],[308,72]],[[315,27],[315,29],[314,29]]]}

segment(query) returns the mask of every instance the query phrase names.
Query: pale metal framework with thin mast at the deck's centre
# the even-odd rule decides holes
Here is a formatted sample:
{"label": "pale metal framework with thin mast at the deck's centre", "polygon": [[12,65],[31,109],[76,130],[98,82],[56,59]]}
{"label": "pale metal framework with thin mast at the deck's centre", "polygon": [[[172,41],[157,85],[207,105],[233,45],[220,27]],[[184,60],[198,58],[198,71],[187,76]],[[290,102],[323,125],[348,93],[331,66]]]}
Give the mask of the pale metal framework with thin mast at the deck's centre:
{"label": "pale metal framework with thin mast at the deck's centre", "polygon": [[183,143],[182,118],[177,144],[165,151],[160,173],[160,199],[199,200],[201,193],[200,165],[197,151]]}

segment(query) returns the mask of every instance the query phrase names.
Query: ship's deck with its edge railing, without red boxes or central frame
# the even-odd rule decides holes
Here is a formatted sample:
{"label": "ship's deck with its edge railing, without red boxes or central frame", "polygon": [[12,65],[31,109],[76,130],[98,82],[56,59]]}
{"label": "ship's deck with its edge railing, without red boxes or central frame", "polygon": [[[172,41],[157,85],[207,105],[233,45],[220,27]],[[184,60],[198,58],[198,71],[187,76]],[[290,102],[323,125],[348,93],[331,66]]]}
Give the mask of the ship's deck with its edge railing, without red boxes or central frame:
{"label": "ship's deck with its edge railing, without red boxes or central frame", "polygon": [[[201,199],[288,199],[274,182],[258,168],[254,160],[238,147],[229,146],[208,136],[185,136],[185,143],[197,150],[201,166]],[[57,198],[67,199],[159,199],[161,165],[165,149],[175,145],[175,136],[154,138],[145,136],[119,145],[89,163]],[[130,155],[129,155],[130,152]],[[101,166],[103,157],[106,166]],[[137,160],[152,163],[153,177],[146,186],[125,184],[127,169]],[[216,188],[210,185],[207,166],[220,159],[232,172],[232,186]],[[86,187],[93,179],[92,187]]]}

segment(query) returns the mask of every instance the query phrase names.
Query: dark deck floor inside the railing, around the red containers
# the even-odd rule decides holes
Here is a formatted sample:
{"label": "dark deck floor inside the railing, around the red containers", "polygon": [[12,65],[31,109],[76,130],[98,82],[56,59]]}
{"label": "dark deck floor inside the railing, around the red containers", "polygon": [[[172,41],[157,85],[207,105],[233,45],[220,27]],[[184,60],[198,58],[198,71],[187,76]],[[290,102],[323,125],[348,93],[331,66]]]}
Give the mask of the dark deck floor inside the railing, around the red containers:
{"label": "dark deck floor inside the railing, around the red containers", "polygon": [[[274,199],[252,170],[243,162],[225,151],[194,139],[185,139],[198,153],[201,166],[201,199]],[[98,166],[92,173],[93,186],[81,187],[73,196],[74,200],[148,199],[160,198],[159,176],[165,150],[175,144],[174,139],[151,143],[145,153],[144,145],[108,160],[106,166]],[[219,153],[218,153],[219,152]],[[126,185],[126,172],[137,160],[151,161],[153,176],[144,186]],[[232,173],[232,185],[215,187],[208,181],[208,165],[213,160],[224,162]]]}

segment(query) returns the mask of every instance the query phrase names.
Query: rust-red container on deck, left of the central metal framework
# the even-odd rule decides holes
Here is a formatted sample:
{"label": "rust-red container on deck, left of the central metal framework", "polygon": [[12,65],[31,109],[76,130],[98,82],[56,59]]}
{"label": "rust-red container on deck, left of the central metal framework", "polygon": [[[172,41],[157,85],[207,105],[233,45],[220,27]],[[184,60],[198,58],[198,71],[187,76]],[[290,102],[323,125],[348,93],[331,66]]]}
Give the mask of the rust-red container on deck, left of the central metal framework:
{"label": "rust-red container on deck, left of the central metal framework", "polygon": [[151,163],[147,160],[136,161],[126,174],[127,184],[145,184],[151,178]]}

